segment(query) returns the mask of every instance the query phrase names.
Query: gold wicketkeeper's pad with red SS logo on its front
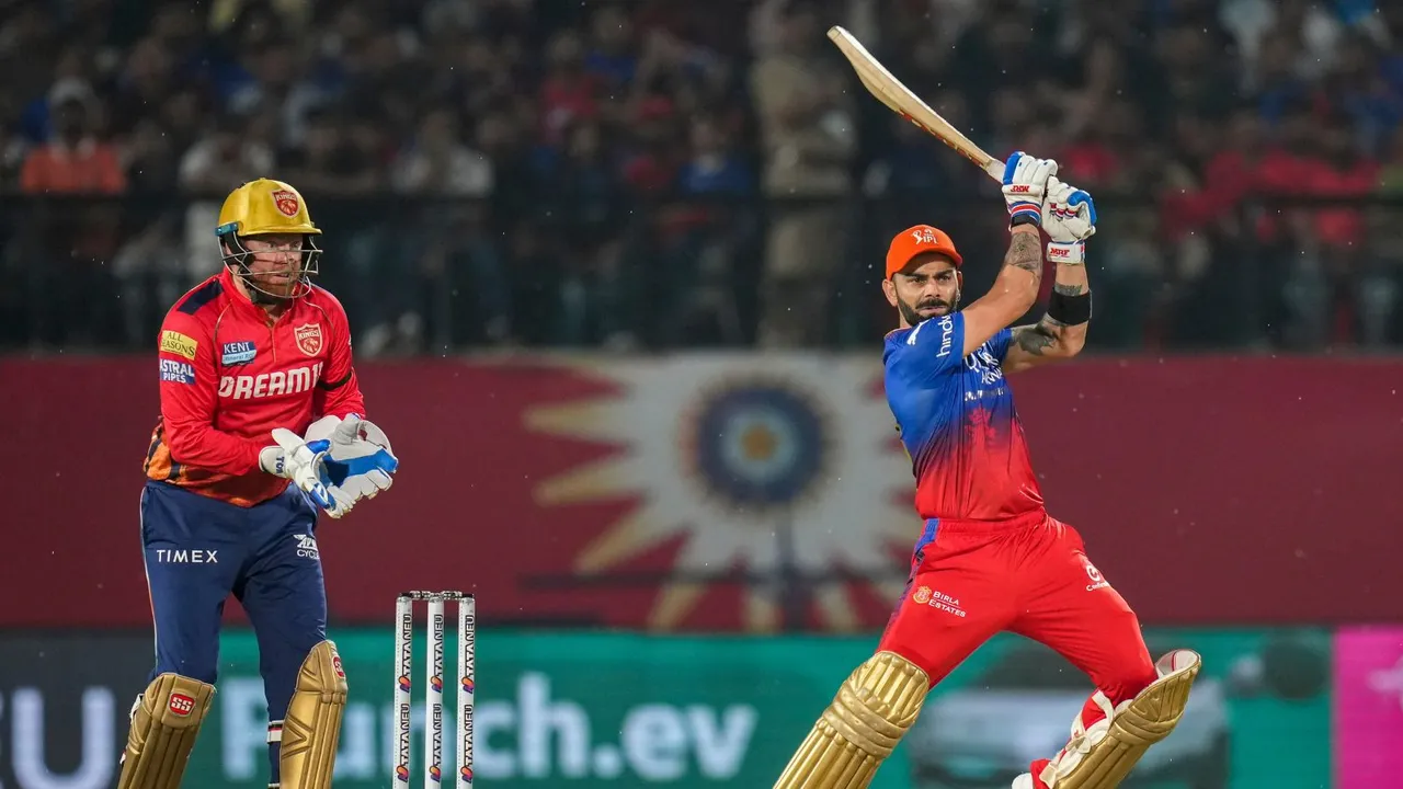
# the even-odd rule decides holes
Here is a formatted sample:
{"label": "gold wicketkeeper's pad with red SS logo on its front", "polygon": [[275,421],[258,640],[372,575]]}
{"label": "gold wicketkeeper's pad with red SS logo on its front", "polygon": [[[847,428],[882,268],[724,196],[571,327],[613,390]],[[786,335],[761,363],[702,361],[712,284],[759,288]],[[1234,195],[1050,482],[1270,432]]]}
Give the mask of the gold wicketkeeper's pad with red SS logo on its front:
{"label": "gold wicketkeeper's pad with red SS logo on its front", "polygon": [[161,674],[132,708],[118,789],[177,789],[195,736],[209,713],[215,687]]}

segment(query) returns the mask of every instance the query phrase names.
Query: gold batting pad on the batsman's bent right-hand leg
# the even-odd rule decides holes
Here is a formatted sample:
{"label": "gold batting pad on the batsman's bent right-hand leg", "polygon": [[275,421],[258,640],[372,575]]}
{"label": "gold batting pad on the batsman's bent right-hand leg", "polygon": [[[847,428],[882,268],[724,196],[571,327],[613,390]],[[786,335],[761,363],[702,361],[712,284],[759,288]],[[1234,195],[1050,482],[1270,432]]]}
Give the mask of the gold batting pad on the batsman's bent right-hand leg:
{"label": "gold batting pad on the batsman's bent right-hand leg", "polygon": [[1072,741],[1044,768],[1042,782],[1049,789],[1118,786],[1145,751],[1179,724],[1201,667],[1198,653],[1174,650],[1155,663],[1159,679],[1122,702],[1120,710],[1111,710],[1110,717],[1083,730],[1078,716]]}

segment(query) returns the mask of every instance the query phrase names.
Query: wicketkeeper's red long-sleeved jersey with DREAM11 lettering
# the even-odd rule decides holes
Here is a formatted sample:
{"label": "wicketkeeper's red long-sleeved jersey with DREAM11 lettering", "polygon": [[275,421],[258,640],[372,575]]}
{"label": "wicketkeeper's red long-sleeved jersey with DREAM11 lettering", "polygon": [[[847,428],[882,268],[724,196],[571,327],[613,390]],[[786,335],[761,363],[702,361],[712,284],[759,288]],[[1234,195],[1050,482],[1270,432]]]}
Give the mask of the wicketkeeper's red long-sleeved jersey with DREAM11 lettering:
{"label": "wicketkeeper's red long-sleeved jersey with DREAM11 lettering", "polygon": [[302,435],[328,414],[365,416],[345,309],[321,288],[272,319],[226,268],[175,302],[159,348],[147,479],[253,507],[290,483],[258,466],[275,427]]}

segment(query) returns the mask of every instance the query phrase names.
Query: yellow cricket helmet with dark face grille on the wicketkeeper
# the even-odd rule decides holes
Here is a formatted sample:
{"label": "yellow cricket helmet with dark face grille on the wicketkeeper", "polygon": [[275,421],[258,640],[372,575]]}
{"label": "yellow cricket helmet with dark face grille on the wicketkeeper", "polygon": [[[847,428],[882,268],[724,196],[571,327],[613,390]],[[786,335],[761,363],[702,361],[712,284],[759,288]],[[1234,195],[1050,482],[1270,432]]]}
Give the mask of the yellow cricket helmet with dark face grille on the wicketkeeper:
{"label": "yellow cricket helmet with dark face grille on the wicketkeeper", "polygon": [[[250,236],[272,234],[303,237],[302,261],[292,285],[283,288],[283,292],[260,285],[258,279],[268,277],[268,272],[250,271],[248,260],[255,253],[243,243],[243,239]],[[311,236],[320,234],[321,229],[313,225],[307,202],[297,190],[292,188],[292,184],[272,178],[248,181],[229,192],[223,208],[219,209],[219,225],[215,226],[215,236],[223,247],[224,265],[234,270],[248,286],[250,296],[258,302],[296,299],[311,292],[311,277],[318,272],[321,257],[321,250],[313,243]]]}

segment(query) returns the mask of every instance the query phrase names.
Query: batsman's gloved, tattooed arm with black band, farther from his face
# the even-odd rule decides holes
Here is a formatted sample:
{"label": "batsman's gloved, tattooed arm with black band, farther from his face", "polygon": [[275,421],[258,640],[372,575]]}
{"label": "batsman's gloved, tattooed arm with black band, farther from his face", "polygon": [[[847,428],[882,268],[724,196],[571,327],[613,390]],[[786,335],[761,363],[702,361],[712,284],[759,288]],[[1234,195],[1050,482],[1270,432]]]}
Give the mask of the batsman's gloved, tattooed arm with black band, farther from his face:
{"label": "batsman's gloved, tattooed arm with black band, farther from his face", "polygon": [[1092,320],[1092,289],[1086,275],[1086,239],[1096,233],[1096,204],[1085,191],[1048,178],[1042,209],[1048,258],[1056,263],[1056,281],[1042,320],[1013,330],[1003,357],[1003,371],[1017,372],[1054,359],[1069,359],[1086,345]]}

